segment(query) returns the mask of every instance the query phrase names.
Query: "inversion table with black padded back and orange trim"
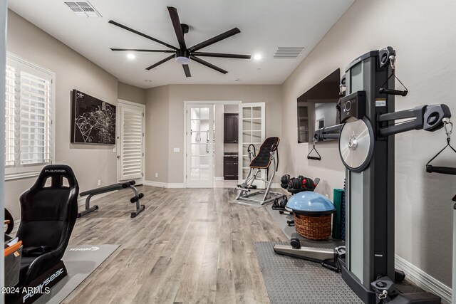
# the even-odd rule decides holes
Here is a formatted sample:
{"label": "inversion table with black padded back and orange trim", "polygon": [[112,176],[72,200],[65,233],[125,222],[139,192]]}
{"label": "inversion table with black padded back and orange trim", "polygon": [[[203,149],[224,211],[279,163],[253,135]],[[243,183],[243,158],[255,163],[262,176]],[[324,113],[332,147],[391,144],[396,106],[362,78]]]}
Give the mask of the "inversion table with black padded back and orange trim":
{"label": "inversion table with black padded back and orange trim", "polygon": [[[277,150],[279,141],[279,137],[266,138],[261,144],[258,154],[255,153],[255,146],[249,145],[247,152],[249,152],[250,170],[245,181],[242,184],[237,185],[236,189],[239,190],[239,194],[236,198],[237,201],[250,201],[264,205],[274,201],[274,199],[284,196],[283,193],[270,192],[272,180],[274,179],[277,167],[279,166],[279,151]],[[273,170],[271,178],[269,179],[269,167],[271,164],[273,164]],[[266,169],[266,179],[258,176],[261,169]],[[265,182],[266,190],[252,192],[253,189],[257,189],[257,186],[254,185],[256,180]]]}

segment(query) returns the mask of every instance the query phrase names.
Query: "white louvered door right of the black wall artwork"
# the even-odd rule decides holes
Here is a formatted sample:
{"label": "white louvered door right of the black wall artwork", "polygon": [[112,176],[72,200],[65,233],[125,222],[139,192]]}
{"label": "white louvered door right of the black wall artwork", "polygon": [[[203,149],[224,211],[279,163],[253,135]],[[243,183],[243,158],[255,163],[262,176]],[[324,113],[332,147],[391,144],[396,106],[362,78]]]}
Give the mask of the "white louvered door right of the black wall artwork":
{"label": "white louvered door right of the black wall artwork", "polygon": [[119,181],[144,179],[144,106],[118,103]]}

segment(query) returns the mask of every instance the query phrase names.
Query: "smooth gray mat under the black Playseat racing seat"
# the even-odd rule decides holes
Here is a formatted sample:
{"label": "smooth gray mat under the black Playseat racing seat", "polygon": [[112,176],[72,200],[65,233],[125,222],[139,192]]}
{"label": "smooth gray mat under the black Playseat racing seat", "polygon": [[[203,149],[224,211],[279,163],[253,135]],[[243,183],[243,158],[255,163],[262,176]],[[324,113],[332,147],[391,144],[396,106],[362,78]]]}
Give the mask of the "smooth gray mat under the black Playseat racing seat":
{"label": "smooth gray mat under the black Playseat racing seat", "polygon": [[63,256],[68,275],[51,288],[51,293],[41,295],[33,303],[61,303],[118,247],[119,245],[68,246]]}

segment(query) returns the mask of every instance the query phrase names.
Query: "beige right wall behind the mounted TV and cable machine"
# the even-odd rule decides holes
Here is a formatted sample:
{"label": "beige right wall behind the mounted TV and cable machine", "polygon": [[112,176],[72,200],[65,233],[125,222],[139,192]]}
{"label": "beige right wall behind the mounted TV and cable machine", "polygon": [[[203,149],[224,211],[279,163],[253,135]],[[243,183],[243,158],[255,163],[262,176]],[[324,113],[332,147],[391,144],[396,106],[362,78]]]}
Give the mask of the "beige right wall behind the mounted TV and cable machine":
{"label": "beige right wall behind the mounted TV and cable machine", "polygon": [[[456,1],[357,0],[283,85],[284,172],[320,177],[332,197],[343,187],[344,170],[336,142],[318,145],[322,161],[306,159],[311,145],[297,144],[296,98],[336,68],[345,70],[370,50],[393,46],[397,75],[409,94],[396,109],[446,103],[456,113]],[[398,84],[396,84],[398,86]],[[395,137],[396,253],[430,276],[451,285],[452,196],[456,178],[425,173],[425,164],[445,145],[445,134],[412,131]],[[285,148],[285,149],[284,149]],[[286,159],[286,160],[285,160]],[[455,164],[454,154],[441,163]]]}

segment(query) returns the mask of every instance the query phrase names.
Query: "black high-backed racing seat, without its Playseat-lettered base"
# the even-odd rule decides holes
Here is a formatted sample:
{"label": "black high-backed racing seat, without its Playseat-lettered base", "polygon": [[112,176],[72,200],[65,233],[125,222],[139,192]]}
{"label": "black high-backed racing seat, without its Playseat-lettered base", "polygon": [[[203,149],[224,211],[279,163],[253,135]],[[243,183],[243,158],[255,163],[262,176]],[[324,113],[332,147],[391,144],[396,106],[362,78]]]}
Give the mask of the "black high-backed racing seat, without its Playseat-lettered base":
{"label": "black high-backed racing seat, without its Playseat-lettered base", "polygon": [[51,164],[21,194],[17,236],[24,249],[18,286],[28,285],[61,261],[78,216],[78,193],[73,169]]}

